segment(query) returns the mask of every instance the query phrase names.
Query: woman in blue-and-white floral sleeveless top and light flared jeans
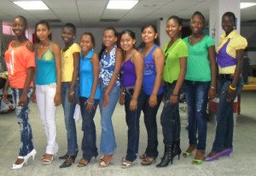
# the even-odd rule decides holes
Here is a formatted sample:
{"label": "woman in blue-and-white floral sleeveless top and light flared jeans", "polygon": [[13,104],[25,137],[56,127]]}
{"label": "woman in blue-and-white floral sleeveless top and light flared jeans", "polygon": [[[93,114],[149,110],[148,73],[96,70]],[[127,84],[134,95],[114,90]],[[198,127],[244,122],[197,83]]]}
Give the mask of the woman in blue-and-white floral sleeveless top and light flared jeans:
{"label": "woman in blue-and-white floral sleeveless top and light flared jeans", "polygon": [[101,99],[100,111],[102,116],[102,138],[100,151],[102,162],[99,167],[107,167],[113,160],[116,142],[113,133],[112,115],[120,94],[119,71],[121,68],[123,54],[116,46],[117,32],[113,27],[104,30],[103,43],[106,49],[100,60],[100,86]]}

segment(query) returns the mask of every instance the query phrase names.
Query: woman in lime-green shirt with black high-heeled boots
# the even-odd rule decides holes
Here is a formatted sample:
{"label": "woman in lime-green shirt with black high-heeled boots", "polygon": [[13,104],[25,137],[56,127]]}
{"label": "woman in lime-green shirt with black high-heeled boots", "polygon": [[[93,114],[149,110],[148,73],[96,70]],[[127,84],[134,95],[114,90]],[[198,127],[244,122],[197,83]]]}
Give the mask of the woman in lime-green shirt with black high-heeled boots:
{"label": "woman in lime-green shirt with black high-heeled boots", "polygon": [[186,74],[188,47],[179,37],[182,30],[181,19],[171,16],[166,21],[166,33],[171,41],[166,43],[164,53],[166,63],[164,68],[164,100],[165,106],[160,116],[162,125],[165,154],[156,167],[166,167],[172,163],[174,156],[181,154],[180,141],[180,117],[178,112],[178,97]]}

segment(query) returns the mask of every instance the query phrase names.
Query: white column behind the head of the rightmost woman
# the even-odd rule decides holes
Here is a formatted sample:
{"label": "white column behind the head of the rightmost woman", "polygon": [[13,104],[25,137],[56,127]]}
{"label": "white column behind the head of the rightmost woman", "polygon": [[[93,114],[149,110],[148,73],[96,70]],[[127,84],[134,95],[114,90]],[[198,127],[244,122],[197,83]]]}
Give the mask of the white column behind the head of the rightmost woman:
{"label": "white column behind the head of the rightmost woman", "polygon": [[219,37],[224,32],[221,26],[222,15],[225,12],[233,12],[236,15],[236,31],[240,33],[241,12],[240,0],[211,0],[210,9],[210,35],[215,39],[216,45],[219,43]]}

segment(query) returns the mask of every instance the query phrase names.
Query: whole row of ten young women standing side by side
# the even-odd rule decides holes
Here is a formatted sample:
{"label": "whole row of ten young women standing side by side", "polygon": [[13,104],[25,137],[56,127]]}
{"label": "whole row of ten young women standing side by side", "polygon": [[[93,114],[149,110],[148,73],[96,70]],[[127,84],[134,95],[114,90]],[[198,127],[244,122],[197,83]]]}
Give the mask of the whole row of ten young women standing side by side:
{"label": "whole row of ten young women standing side by side", "polygon": [[[108,167],[113,161],[117,147],[112,124],[113,111],[118,101],[120,105],[125,105],[128,145],[121,163],[124,168],[132,167],[137,159],[141,111],[148,133],[148,145],[139,157],[142,165],[154,163],[159,154],[156,115],[163,101],[160,123],[165,150],[156,167],[166,167],[175,156],[179,158],[182,153],[178,103],[183,83],[189,113],[189,147],[183,152],[183,157],[191,156],[196,150],[192,164],[201,164],[220,156],[229,156],[232,152],[232,103],[243,85],[242,53],[247,47],[246,39],[234,30],[235,14],[227,12],[223,15],[224,34],[216,50],[212,37],[203,33],[205,18],[200,12],[192,15],[192,34],[183,39],[180,38],[181,19],[171,16],[166,20],[166,33],[170,41],[163,50],[159,47],[155,26],[142,28],[143,47],[138,49],[135,48],[136,37],[133,31],[122,31],[117,43],[117,31],[108,27],[103,31],[104,48],[99,56],[94,52],[95,38],[90,32],[82,34],[80,46],[74,43],[76,28],[72,24],[62,28],[61,37],[65,43],[63,49],[51,41],[47,22],[40,21],[36,25],[35,45],[26,38],[26,27],[26,19],[17,16],[13,23],[17,39],[9,44],[5,53],[9,80],[3,97],[10,85],[13,88],[21,135],[20,153],[12,169],[23,167],[37,153],[33,147],[32,129],[28,120],[30,99],[38,104],[47,137],[43,164],[50,164],[58,151],[55,111],[57,105],[63,106],[67,153],[59,157],[65,159],[60,167],[70,167],[79,152],[73,120],[76,103],[80,104],[84,131],[83,157],[78,167],[87,166],[90,159],[98,155],[93,120],[98,105],[102,125],[100,153],[103,155],[98,166]],[[219,105],[216,135],[212,150],[205,157],[207,102],[217,93]]]}

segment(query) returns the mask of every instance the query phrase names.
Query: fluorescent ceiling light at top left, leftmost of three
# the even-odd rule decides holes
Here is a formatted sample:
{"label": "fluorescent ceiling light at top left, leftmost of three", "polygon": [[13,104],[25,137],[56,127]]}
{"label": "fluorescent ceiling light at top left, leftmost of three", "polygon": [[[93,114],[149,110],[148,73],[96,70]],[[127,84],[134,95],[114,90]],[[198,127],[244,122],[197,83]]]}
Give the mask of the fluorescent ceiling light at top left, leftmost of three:
{"label": "fluorescent ceiling light at top left, leftmost of three", "polygon": [[14,3],[27,10],[48,9],[42,1],[15,1]]}

